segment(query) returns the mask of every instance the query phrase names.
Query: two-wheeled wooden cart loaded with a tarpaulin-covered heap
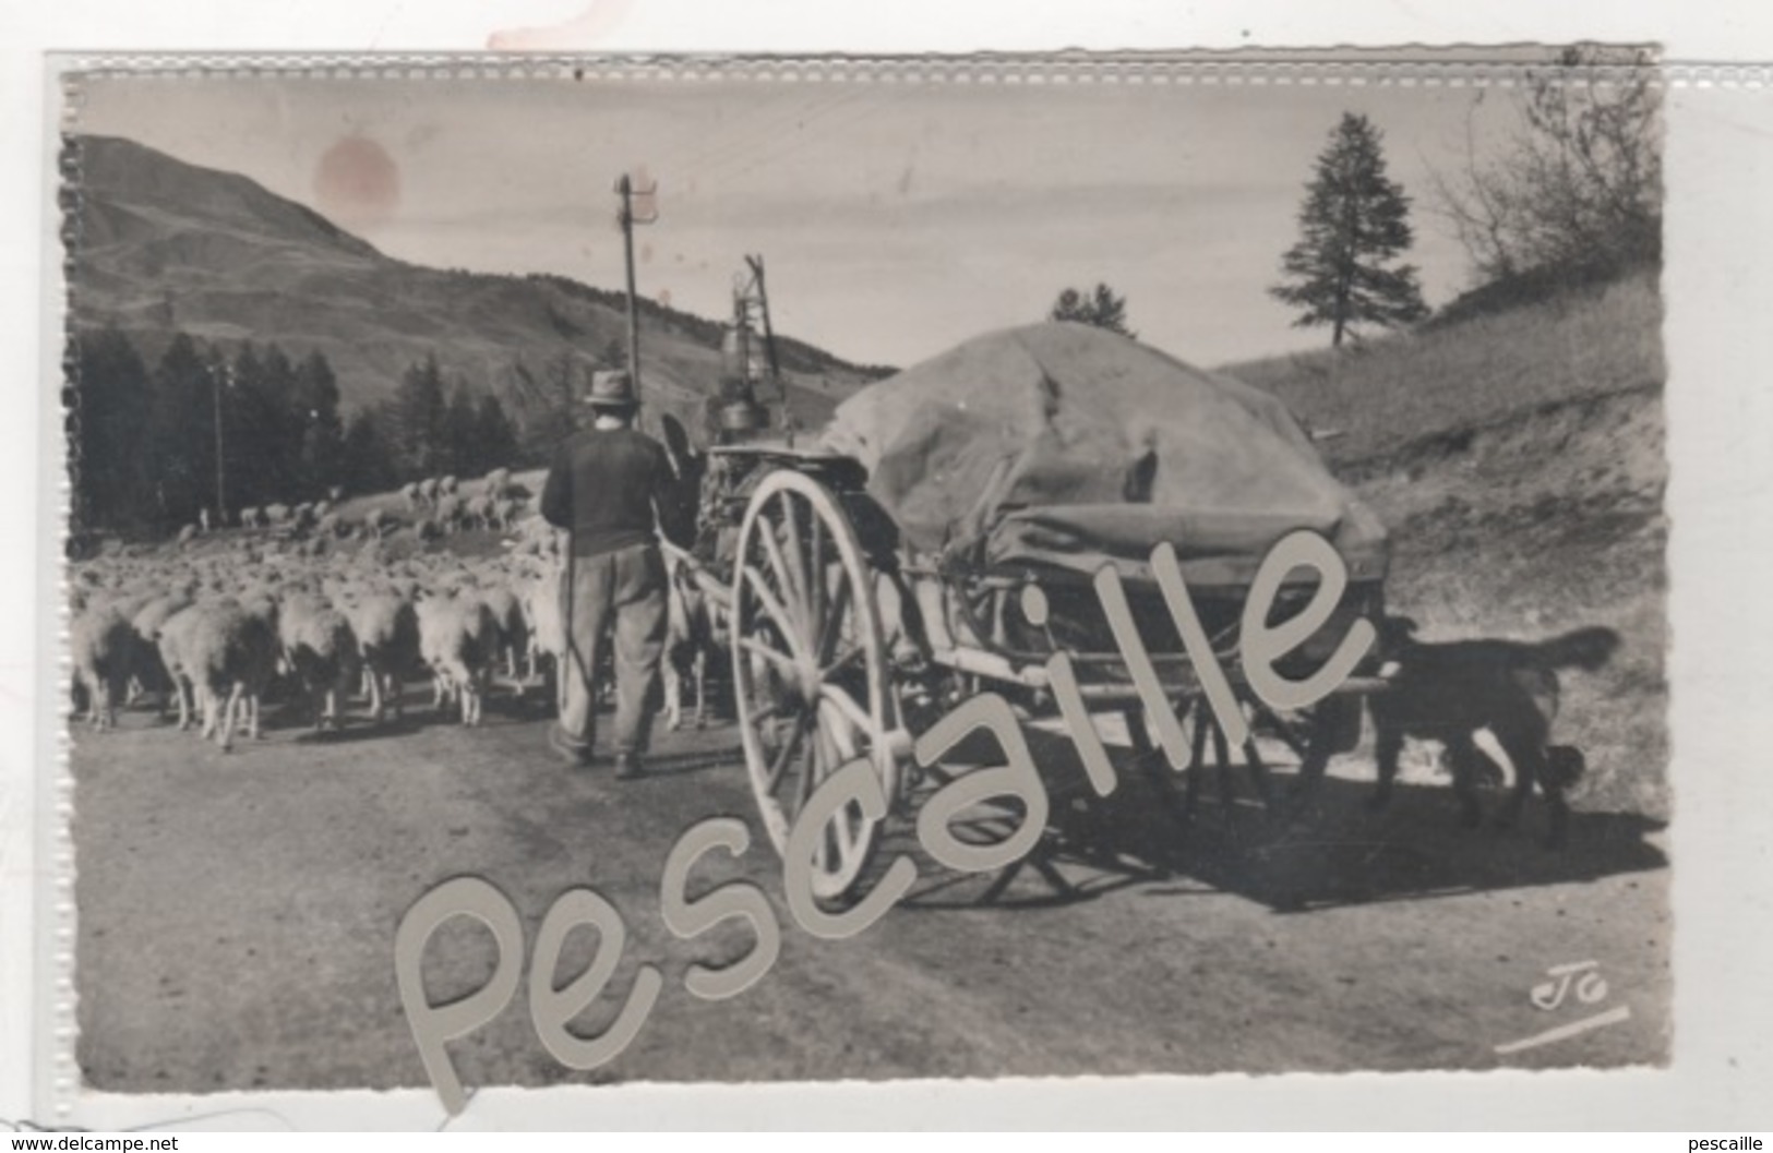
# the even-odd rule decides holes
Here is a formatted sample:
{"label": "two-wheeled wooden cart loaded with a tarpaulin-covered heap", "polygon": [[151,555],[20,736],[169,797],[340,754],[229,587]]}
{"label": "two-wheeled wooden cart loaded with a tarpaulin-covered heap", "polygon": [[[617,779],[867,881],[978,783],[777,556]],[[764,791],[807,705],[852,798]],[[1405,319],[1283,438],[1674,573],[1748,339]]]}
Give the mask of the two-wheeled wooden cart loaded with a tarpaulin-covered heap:
{"label": "two-wheeled wooden cart loaded with a tarpaulin-covered heap", "polygon": [[[1168,388],[1156,406],[1152,388]],[[837,901],[911,795],[913,736],[980,692],[1030,722],[1119,715],[1126,763],[1186,780],[1191,804],[1186,770],[1207,741],[1227,761],[1225,701],[1207,699],[1218,681],[1239,720],[1321,770],[1358,736],[1371,662],[1293,711],[1250,690],[1239,644],[1264,553],[1301,529],[1333,548],[1346,585],[1275,665],[1284,676],[1308,676],[1381,610],[1378,522],[1271,397],[1046,325],[872,385],[817,445],[713,449],[699,539],[679,555],[727,623],[745,761],[777,851],[839,766],[865,757],[879,779],[885,816],[851,804],[817,839],[814,894]],[[1160,555],[1174,561],[1170,587]],[[1175,576],[1191,621],[1177,617]],[[1300,616],[1319,582],[1333,584],[1269,580],[1264,623]],[[1181,763],[1174,734],[1190,717]],[[1254,740],[1245,754],[1261,766]]]}

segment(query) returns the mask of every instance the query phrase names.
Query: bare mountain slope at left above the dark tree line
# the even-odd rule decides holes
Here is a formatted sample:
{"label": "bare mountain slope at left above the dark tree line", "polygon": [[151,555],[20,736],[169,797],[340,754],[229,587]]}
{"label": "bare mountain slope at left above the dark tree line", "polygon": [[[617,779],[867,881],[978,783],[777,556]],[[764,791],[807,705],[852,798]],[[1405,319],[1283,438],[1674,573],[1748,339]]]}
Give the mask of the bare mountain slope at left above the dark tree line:
{"label": "bare mountain slope at left above the dark tree line", "polygon": [[[560,365],[592,367],[626,342],[622,296],[560,277],[496,277],[406,264],[257,183],[113,137],[69,140],[71,312],[117,325],[147,355],[174,332],[324,353],[344,408],[388,397],[434,355],[475,392],[534,399]],[[691,415],[720,371],[720,326],[642,302],[651,403]],[[796,417],[830,408],[878,371],[780,341]],[[521,365],[521,367],[519,367]]]}

